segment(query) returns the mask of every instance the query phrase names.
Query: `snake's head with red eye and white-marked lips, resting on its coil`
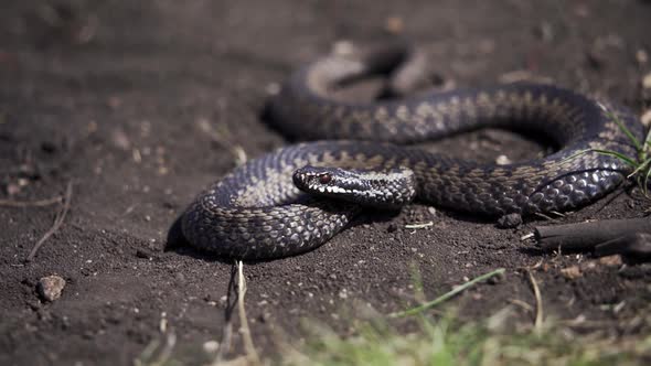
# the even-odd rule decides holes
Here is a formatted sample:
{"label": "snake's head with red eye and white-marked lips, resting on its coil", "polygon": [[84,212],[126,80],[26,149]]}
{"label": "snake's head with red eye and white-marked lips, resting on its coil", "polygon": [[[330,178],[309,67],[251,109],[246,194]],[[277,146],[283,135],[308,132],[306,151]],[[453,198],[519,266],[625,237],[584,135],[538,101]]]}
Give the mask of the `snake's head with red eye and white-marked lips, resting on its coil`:
{"label": "snake's head with red eye and white-marked lips, resting on its coil", "polygon": [[309,194],[376,208],[395,209],[416,195],[415,174],[404,168],[376,172],[307,165],[296,170],[292,180]]}

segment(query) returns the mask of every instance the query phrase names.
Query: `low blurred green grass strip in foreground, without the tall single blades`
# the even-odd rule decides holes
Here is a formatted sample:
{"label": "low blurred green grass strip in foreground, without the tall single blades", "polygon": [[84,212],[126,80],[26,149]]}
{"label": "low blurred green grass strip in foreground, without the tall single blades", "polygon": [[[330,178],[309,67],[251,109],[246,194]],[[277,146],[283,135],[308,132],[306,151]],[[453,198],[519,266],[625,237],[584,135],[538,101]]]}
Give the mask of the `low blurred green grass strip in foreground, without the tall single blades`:
{"label": "low blurred green grass strip in foreground, without the tall single blades", "polygon": [[[559,324],[504,333],[487,325],[491,319],[462,324],[420,316],[417,322],[418,331],[408,334],[387,322],[362,323],[348,337],[321,326],[300,359],[310,365],[643,365],[651,352],[651,336],[577,336]],[[286,358],[284,364],[297,363]]]}

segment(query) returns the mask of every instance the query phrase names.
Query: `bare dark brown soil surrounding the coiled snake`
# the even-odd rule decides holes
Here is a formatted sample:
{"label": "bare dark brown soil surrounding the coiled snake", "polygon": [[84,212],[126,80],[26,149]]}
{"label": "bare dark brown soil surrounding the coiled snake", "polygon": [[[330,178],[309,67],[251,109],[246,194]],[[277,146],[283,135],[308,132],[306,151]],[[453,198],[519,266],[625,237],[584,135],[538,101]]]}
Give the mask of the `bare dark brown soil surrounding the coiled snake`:
{"label": "bare dark brown soil surrounding the coiled snake", "polygon": [[[181,360],[204,359],[202,344],[222,337],[233,266],[169,245],[170,227],[234,168],[237,147],[253,158],[287,143],[260,118],[269,93],[333,43],[382,40],[388,29],[421,45],[448,85],[545,78],[641,114],[650,19],[651,3],[632,0],[3,0],[0,197],[52,197],[70,181],[73,195],[62,227],[31,262],[24,259],[58,206],[0,207],[0,364],[125,365],[170,332]],[[548,151],[493,130],[433,149],[483,161]],[[628,192],[609,198],[553,223],[638,217],[647,208]],[[405,228],[424,222],[434,225]],[[343,310],[355,303],[404,309],[415,301],[413,267],[429,299],[506,268],[501,281],[453,301],[462,317],[481,319],[514,300],[533,305],[522,268],[537,265],[547,317],[583,319],[578,333],[648,334],[640,316],[651,267],[541,252],[521,240],[551,223],[498,229],[418,204],[397,216],[366,214],[318,250],[245,267],[254,342],[268,356],[278,337],[301,337],[301,319],[345,333]],[[564,276],[574,266],[580,273]],[[67,281],[52,303],[35,290],[50,274]],[[514,308],[514,322],[531,323],[525,308]]]}

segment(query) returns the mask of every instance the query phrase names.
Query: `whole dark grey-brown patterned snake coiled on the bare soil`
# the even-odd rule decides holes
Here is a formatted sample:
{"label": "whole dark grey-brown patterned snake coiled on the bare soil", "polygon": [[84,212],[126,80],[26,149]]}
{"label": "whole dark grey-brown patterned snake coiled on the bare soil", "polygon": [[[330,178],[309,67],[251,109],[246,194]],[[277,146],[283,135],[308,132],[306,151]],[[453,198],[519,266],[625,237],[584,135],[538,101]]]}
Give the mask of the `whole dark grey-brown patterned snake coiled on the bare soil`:
{"label": "whole dark grey-brown patterned snake coiled on the bare soil", "polygon": [[[224,258],[282,258],[321,246],[366,206],[395,209],[416,200],[488,217],[561,213],[594,203],[631,173],[630,164],[612,153],[636,157],[630,137],[643,134],[636,116],[551,84],[372,101],[333,96],[370,75],[408,80],[416,74],[408,66],[412,54],[406,47],[334,53],[291,73],[269,100],[269,120],[307,142],[248,160],[199,194],[181,216],[188,241]],[[480,128],[538,133],[557,149],[498,164],[414,146]],[[364,187],[371,191],[360,198]]]}

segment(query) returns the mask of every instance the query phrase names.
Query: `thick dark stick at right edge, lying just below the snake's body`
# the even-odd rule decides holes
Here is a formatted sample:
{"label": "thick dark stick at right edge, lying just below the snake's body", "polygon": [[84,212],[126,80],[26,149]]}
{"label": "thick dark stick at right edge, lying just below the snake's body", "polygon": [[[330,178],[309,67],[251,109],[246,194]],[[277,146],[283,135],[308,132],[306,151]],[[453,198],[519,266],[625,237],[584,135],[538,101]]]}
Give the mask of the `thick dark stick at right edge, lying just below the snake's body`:
{"label": "thick dark stick at right edge, lying just below the snake's body", "polygon": [[599,222],[538,226],[535,237],[541,248],[593,249],[597,244],[632,233],[650,233],[651,218],[605,219]]}

